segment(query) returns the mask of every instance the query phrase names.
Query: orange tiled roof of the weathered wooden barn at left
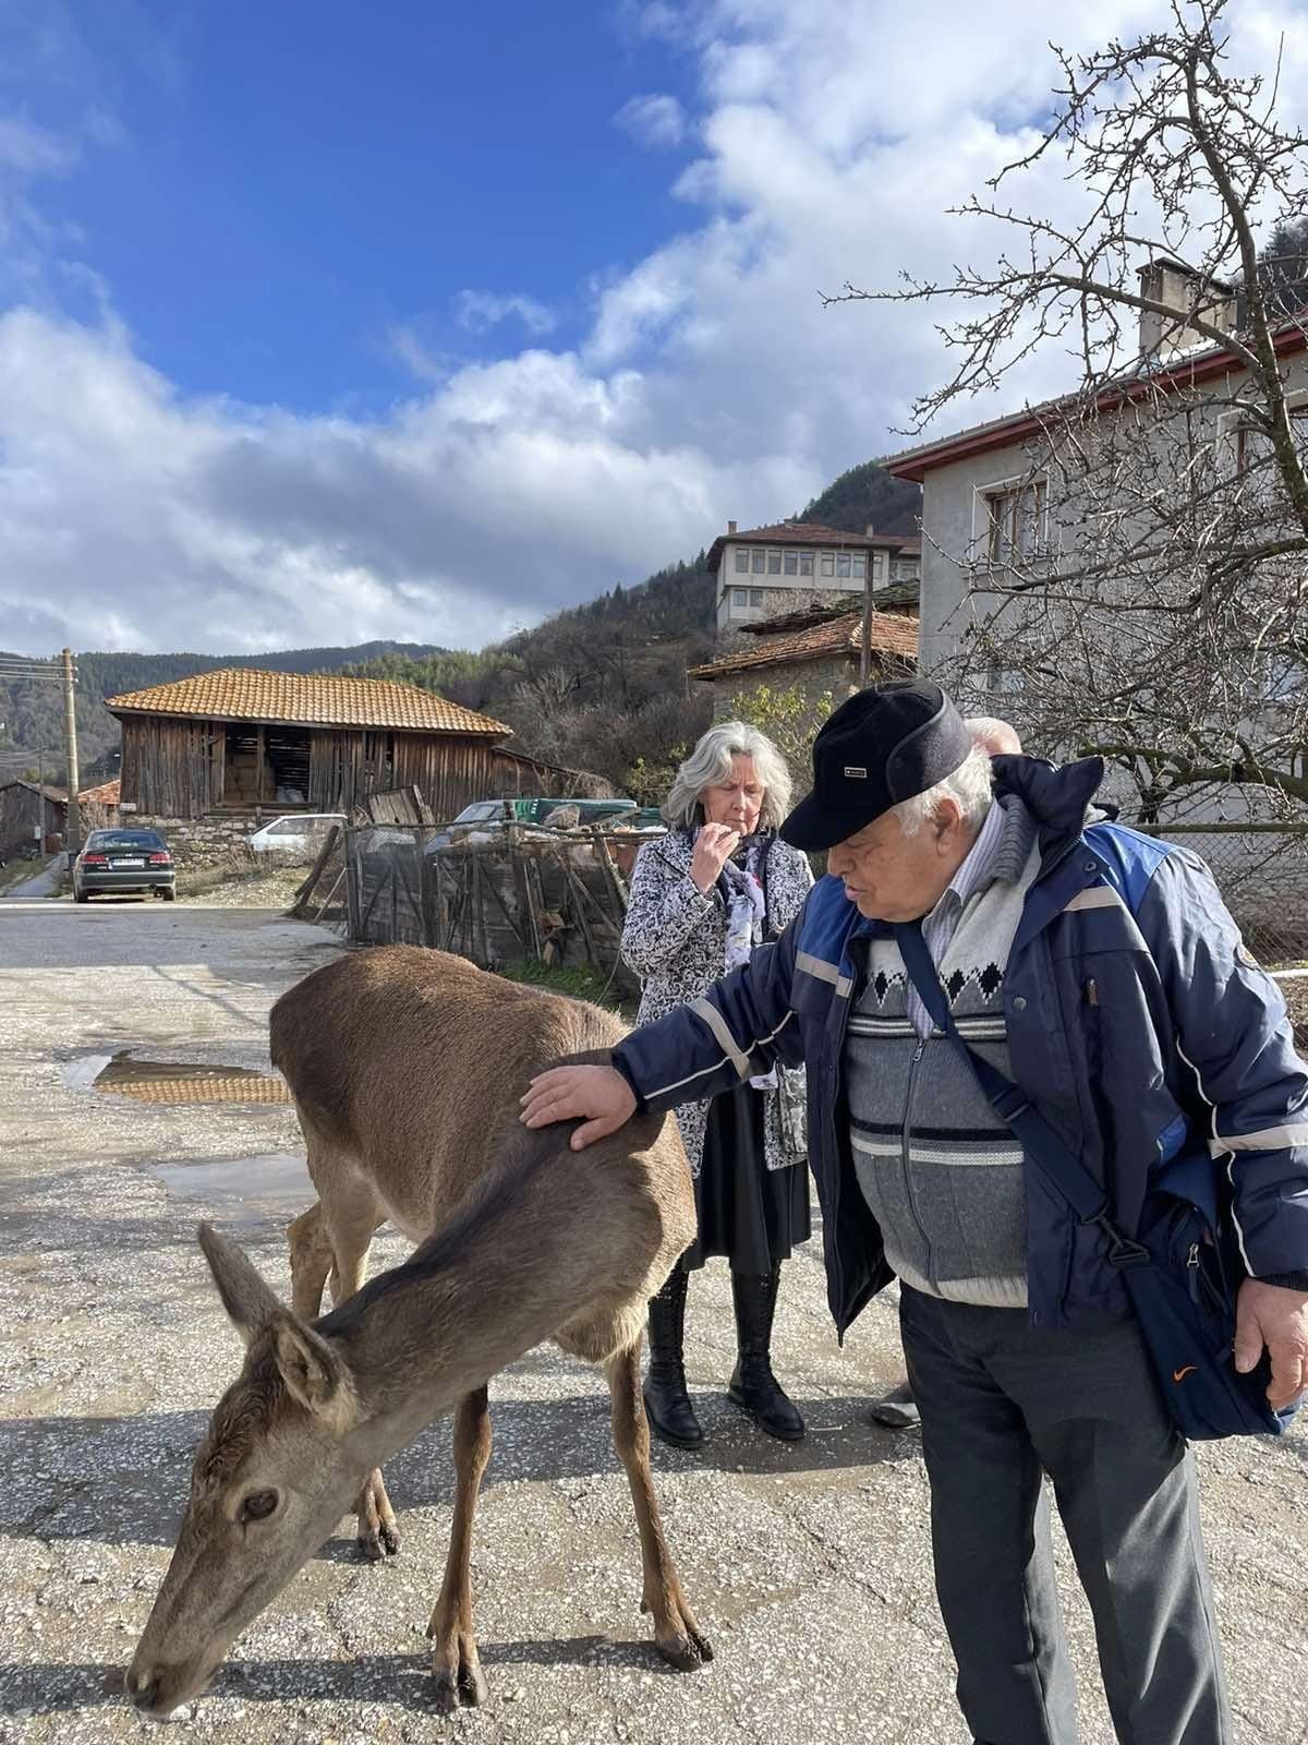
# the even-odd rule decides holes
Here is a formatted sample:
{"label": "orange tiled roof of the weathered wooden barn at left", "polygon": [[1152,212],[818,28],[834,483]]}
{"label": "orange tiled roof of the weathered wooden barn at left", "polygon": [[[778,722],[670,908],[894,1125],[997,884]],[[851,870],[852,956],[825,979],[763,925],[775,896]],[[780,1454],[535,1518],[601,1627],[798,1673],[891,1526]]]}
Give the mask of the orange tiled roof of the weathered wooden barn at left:
{"label": "orange tiled roof of the weathered wooden barn at left", "polygon": [[218,667],[174,684],[112,696],[113,714],[202,715],[206,721],[295,721],[324,728],[398,728],[406,733],[511,733],[502,721],[394,679],[323,679],[300,672]]}

